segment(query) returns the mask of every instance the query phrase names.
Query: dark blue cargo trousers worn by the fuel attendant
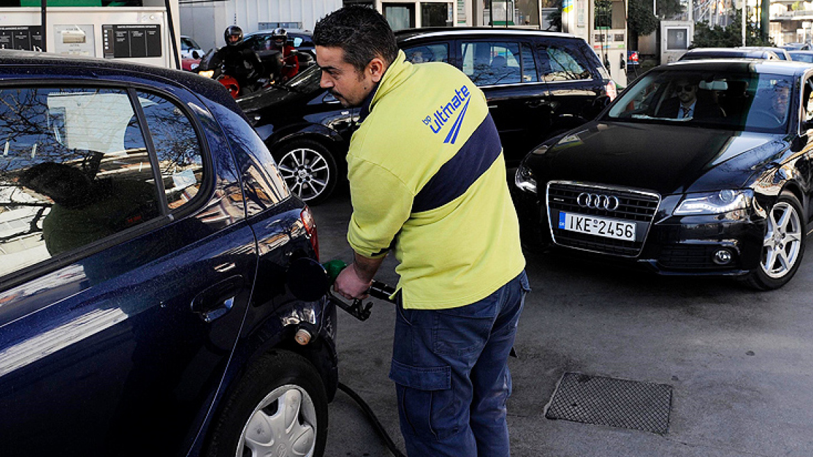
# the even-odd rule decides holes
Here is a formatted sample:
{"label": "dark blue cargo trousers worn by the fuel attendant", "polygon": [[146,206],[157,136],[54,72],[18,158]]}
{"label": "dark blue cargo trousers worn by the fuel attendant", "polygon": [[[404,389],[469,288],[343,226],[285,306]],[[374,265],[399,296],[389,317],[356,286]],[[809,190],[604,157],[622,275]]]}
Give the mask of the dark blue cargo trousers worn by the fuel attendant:
{"label": "dark blue cargo trousers worn by the fuel attendant", "polygon": [[399,304],[389,378],[407,455],[511,454],[507,360],[528,290],[522,272],[464,307],[413,310]]}

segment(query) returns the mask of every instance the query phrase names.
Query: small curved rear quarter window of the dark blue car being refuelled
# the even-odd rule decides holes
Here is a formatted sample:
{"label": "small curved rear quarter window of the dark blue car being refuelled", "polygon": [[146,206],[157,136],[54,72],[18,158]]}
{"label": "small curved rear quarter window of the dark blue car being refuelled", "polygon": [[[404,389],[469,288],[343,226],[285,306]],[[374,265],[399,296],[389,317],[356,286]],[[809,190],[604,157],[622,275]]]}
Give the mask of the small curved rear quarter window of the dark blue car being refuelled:
{"label": "small curved rear quarter window of the dark blue car being refuelled", "polygon": [[158,155],[167,203],[175,210],[194,198],[203,182],[198,136],[175,103],[154,94],[137,94]]}

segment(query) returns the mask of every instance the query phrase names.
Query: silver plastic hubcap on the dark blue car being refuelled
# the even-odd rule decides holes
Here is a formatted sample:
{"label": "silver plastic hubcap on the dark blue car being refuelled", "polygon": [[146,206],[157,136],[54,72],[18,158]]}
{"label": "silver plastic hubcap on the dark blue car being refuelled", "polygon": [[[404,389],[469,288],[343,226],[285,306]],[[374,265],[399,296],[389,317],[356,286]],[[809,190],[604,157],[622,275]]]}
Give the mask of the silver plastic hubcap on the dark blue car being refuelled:
{"label": "silver plastic hubcap on the dark blue car being refuelled", "polygon": [[254,409],[235,457],[298,457],[314,455],[316,409],[311,396],[297,385],[282,385]]}

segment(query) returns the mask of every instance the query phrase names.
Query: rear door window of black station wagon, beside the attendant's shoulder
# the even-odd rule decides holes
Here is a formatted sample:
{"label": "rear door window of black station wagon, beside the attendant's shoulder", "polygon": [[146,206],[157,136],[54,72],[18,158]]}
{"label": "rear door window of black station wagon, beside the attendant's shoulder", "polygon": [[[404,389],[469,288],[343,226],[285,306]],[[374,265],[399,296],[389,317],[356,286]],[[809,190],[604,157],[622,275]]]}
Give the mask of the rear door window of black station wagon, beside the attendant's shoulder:
{"label": "rear door window of black station wagon, beside the attendant's shoulder", "polygon": [[[516,84],[523,81],[520,43],[464,41],[463,73],[476,85]],[[527,59],[525,59],[527,62]],[[536,70],[527,72],[528,75]]]}

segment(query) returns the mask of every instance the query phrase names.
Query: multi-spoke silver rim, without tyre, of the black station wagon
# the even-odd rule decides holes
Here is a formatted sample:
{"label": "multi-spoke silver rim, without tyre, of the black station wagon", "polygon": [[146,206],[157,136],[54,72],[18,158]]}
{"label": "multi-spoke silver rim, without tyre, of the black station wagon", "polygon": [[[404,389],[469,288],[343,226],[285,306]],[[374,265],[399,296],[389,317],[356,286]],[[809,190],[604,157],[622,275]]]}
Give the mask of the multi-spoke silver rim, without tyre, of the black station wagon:
{"label": "multi-spoke silver rim, without tyre, of the black station wagon", "polygon": [[322,194],[331,180],[327,160],[310,148],[290,150],[280,159],[279,168],[291,192],[306,202]]}

